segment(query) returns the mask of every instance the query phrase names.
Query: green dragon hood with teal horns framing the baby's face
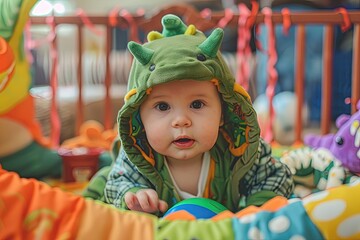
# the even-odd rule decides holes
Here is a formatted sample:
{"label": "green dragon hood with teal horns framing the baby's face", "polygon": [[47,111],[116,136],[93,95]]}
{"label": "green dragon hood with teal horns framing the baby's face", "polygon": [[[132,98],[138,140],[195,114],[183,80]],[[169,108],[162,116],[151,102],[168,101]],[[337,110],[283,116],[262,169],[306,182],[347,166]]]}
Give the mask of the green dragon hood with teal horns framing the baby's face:
{"label": "green dragon hood with teal horns framing the baby's face", "polygon": [[[134,56],[125,103],[118,114],[120,140],[127,157],[146,176],[159,180],[155,169],[164,158],[146,140],[139,108],[151,88],[174,80],[212,81],[221,95],[224,124],[210,150],[215,161],[230,161],[243,174],[258,157],[260,129],[248,93],[238,84],[219,51],[223,30],[208,37],[175,15],[162,18],[163,32],[150,32],[143,45],[129,42]],[[151,178],[151,177],[150,177]]]}

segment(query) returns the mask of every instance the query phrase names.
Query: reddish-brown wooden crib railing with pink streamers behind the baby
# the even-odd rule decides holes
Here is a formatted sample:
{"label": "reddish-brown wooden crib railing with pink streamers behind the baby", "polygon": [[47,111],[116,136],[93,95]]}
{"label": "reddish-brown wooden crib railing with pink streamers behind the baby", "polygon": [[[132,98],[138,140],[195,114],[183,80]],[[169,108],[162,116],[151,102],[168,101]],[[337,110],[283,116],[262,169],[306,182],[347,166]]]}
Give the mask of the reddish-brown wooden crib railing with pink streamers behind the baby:
{"label": "reddish-brown wooden crib railing with pink streamers behind the baby", "polygon": [[[76,117],[75,117],[75,133],[78,133],[80,125],[84,122],[84,102],[86,101],[87,91],[85,86],[85,82],[87,81],[84,77],[84,58],[86,59],[86,55],[84,54],[84,28],[87,28],[92,31],[96,31],[97,26],[103,26],[102,30],[103,37],[105,38],[105,52],[102,60],[105,61],[105,68],[103,75],[99,74],[100,81],[98,84],[101,84],[104,89],[104,94],[101,94],[101,98],[103,99],[103,108],[104,116],[103,122],[106,129],[112,128],[116,119],[114,118],[114,111],[116,112],[116,108],[112,107],[114,101],[112,101],[112,92],[116,92],[120,94],[117,96],[119,102],[121,102],[123,95],[125,94],[126,89],[126,77],[128,75],[128,70],[130,66],[130,55],[123,51],[121,53],[121,58],[127,59],[127,64],[124,67],[121,67],[123,73],[123,79],[118,81],[114,80],[116,78],[116,74],[114,74],[114,68],[119,68],[119,66],[113,64],[111,61],[114,60],[113,55],[119,53],[114,50],[114,29],[121,28],[128,30],[128,39],[118,39],[116,41],[127,42],[128,40],[135,40],[138,42],[143,42],[144,39],[139,37],[139,34],[145,35],[147,32],[151,30],[160,31],[160,19],[161,16],[167,13],[173,13],[181,16],[185,22],[195,24],[200,30],[207,31],[213,29],[215,27],[233,27],[237,29],[240,36],[236,39],[237,41],[237,52],[230,54],[232,58],[229,58],[227,62],[229,66],[234,70],[234,75],[236,75],[237,81],[242,84],[247,90],[250,90],[250,95],[255,96],[256,93],[252,91],[251,84],[256,82],[255,77],[253,77],[253,66],[254,63],[253,54],[249,51],[250,38],[249,34],[253,31],[253,27],[263,25],[266,21],[269,26],[270,34],[274,34],[275,26],[282,25],[285,29],[291,26],[297,26],[296,28],[296,66],[295,66],[295,74],[294,74],[294,84],[295,89],[294,92],[298,96],[299,103],[296,106],[296,124],[295,124],[295,142],[301,142],[303,136],[303,122],[302,119],[302,102],[304,101],[304,91],[305,91],[305,80],[304,80],[304,72],[305,69],[305,49],[307,44],[306,42],[306,30],[305,27],[312,24],[321,24],[324,26],[324,38],[323,38],[323,65],[322,65],[322,97],[321,97],[321,120],[320,120],[320,129],[321,134],[326,134],[331,131],[331,98],[332,98],[332,62],[334,59],[334,53],[332,51],[334,47],[334,28],[337,26],[342,26],[344,28],[353,26],[353,37],[352,37],[352,49],[353,49],[353,57],[352,57],[352,77],[351,77],[351,110],[355,112],[355,104],[358,99],[360,99],[360,70],[357,66],[359,66],[360,61],[360,13],[356,11],[318,11],[318,12],[296,12],[291,13],[290,11],[285,12],[273,12],[269,19],[265,16],[264,13],[258,12],[259,10],[256,7],[253,7],[252,12],[249,10],[244,11],[242,8],[243,14],[233,13],[231,10],[225,10],[222,12],[211,12],[208,9],[204,9],[199,12],[194,9],[190,5],[176,5],[176,6],[168,6],[156,14],[152,16],[145,16],[144,13],[135,13],[130,14],[125,10],[116,10],[109,14],[109,16],[86,16],[84,13],[79,13],[75,16],[54,16],[51,17],[51,21],[49,21],[49,17],[31,17],[30,22],[31,26],[38,25],[48,25],[50,31],[53,31],[55,34],[52,39],[49,40],[50,48],[52,51],[56,51],[57,48],[57,37],[56,37],[56,29],[61,25],[72,25],[76,28],[77,34],[77,42],[75,43],[77,49],[77,58],[72,62],[77,67],[75,69],[75,81],[73,84],[76,85],[77,93],[74,94],[76,96]],[[270,22],[269,22],[270,21]],[[50,22],[50,23],[49,23]],[[124,37],[123,37],[124,38]],[[269,38],[270,41],[273,39]],[[270,45],[275,46],[276,42],[269,42]],[[226,54],[225,54],[226,55]],[[57,76],[57,79],[54,80],[58,83],[51,83],[53,87],[59,84],[62,80],[59,79],[59,73],[57,70],[59,67],[56,67],[58,63],[58,59],[52,57],[50,58],[51,66],[48,66],[47,71],[49,71],[49,78],[54,78]],[[98,62],[99,63],[99,62]],[[250,67],[249,67],[250,63]],[[82,67],[81,67],[82,66]],[[241,69],[245,67],[250,68],[250,73],[244,74],[241,72]],[[274,77],[272,77],[274,78]],[[124,80],[125,79],[125,80]],[[269,76],[268,81],[274,81],[276,79],[271,79]],[[249,89],[250,88],[250,89]],[[116,90],[115,90],[116,89]],[[94,91],[94,90],[93,90]],[[98,90],[96,90],[98,92]],[[61,92],[53,91],[52,94],[56,96],[57,94],[61,95]],[[93,95],[92,92],[90,95]],[[88,94],[89,95],[89,94]],[[56,97],[52,98],[52,101],[57,101]],[[57,104],[61,102],[58,100]],[[56,106],[57,104],[54,104]],[[120,105],[121,106],[121,105]],[[119,107],[119,105],[117,105]],[[270,106],[269,106],[270,107]],[[271,119],[271,118],[270,118]],[[60,131],[56,130],[53,127],[50,127],[52,131]],[[271,140],[271,139],[270,139]]]}

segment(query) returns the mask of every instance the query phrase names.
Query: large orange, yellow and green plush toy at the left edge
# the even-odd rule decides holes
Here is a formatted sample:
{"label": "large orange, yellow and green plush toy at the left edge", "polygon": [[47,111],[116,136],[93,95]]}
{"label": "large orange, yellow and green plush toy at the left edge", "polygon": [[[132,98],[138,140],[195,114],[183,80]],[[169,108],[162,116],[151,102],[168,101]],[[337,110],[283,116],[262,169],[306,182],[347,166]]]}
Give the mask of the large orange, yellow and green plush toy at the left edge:
{"label": "large orange, yellow and green plush toy at the left edge", "polygon": [[59,177],[61,158],[42,135],[29,94],[23,30],[35,3],[0,0],[0,161],[22,177]]}

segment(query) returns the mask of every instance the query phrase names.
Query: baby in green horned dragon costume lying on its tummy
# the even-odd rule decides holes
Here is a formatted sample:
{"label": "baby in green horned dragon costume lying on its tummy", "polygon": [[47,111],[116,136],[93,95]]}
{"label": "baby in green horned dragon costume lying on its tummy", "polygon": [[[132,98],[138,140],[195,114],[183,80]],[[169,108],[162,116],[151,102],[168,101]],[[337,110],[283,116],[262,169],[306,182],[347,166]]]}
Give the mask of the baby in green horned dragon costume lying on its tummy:
{"label": "baby in green horned dragon costume lying on its tummy", "polygon": [[219,52],[223,30],[206,37],[171,14],[162,25],[148,43],[128,44],[134,61],[105,201],[161,215],[191,197],[231,211],[288,197],[291,173],[271,157],[250,97]]}

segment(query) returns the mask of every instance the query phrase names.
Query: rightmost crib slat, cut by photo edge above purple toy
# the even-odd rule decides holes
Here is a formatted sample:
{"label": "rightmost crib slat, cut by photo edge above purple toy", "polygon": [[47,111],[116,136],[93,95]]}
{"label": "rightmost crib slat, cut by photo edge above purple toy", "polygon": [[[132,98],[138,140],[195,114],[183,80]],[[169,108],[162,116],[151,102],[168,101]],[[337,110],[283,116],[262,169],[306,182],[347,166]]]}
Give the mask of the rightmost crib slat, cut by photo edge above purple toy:
{"label": "rightmost crib slat, cut by photo edge above purple toy", "polygon": [[360,100],[360,24],[355,24],[354,26],[351,89],[351,112],[355,113],[356,103]]}

